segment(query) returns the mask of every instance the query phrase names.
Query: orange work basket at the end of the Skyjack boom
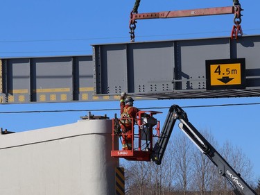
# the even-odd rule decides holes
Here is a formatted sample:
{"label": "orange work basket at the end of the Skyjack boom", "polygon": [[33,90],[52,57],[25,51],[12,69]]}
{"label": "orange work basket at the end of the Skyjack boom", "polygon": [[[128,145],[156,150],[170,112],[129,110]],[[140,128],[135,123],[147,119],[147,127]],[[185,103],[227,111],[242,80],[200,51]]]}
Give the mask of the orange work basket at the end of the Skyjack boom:
{"label": "orange work basket at the end of the Skyjack boom", "polygon": [[[112,119],[112,151],[113,157],[121,157],[126,160],[150,161],[150,154],[153,151],[153,138],[159,137],[160,122],[153,116],[162,112],[157,111],[139,111],[132,120],[131,137],[133,147],[131,150],[122,151],[118,148],[118,139],[127,136],[126,132],[121,131],[121,121],[125,119]],[[135,132],[135,126],[138,127]],[[155,134],[153,134],[155,133]],[[138,140],[137,143],[134,141]]]}

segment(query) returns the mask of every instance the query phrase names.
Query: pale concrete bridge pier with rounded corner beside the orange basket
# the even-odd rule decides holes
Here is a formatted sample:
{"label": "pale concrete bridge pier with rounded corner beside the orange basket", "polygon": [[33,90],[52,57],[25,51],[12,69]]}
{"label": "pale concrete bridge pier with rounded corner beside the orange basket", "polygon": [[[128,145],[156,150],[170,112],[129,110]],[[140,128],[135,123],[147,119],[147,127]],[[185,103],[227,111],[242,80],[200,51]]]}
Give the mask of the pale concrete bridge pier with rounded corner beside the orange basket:
{"label": "pale concrete bridge pier with rounded corner beside the orange basket", "polygon": [[0,194],[114,194],[112,121],[0,135]]}

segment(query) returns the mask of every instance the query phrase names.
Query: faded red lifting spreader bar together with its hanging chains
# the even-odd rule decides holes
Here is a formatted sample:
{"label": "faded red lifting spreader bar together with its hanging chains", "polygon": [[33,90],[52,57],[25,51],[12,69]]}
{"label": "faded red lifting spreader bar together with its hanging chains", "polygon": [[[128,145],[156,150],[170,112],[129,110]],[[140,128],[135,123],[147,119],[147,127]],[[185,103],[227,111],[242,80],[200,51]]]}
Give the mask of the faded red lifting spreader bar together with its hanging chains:
{"label": "faded red lifting spreader bar together with its hanging chains", "polygon": [[137,27],[137,19],[164,19],[175,17],[196,17],[206,15],[227,15],[234,14],[234,26],[232,27],[231,38],[237,39],[239,35],[243,35],[241,28],[241,4],[239,0],[233,0],[233,6],[220,7],[220,8],[201,8],[194,10],[175,10],[175,11],[163,11],[163,12],[146,12],[138,13],[138,8],[141,0],[135,1],[135,6],[130,12],[130,40],[135,42],[135,28]]}

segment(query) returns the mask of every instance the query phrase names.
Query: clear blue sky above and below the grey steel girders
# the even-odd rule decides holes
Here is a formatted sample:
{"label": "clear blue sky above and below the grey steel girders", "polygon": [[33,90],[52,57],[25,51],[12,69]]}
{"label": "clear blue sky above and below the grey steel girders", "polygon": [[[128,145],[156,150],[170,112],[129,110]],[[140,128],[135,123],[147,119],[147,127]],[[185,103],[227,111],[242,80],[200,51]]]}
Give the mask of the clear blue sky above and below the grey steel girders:
{"label": "clear blue sky above and below the grey steel girders", "polygon": [[[240,1],[244,9],[241,26],[245,35],[259,35],[257,18],[260,2]],[[128,21],[135,0],[68,1],[68,0],[3,0],[1,1],[0,58],[39,56],[91,55],[92,44],[129,42]],[[224,1],[143,0],[139,12],[186,10],[232,6]],[[179,40],[199,37],[228,37],[234,15],[152,19],[138,21],[136,42]],[[229,103],[260,103],[259,98],[187,99],[166,101],[135,101],[138,108],[170,107],[172,104],[222,105]],[[118,102],[31,103],[1,105],[0,112],[26,110],[96,110],[119,108]],[[260,178],[260,105],[184,108],[189,120],[198,129],[210,130],[218,144],[226,140],[240,146],[254,165],[254,177]],[[159,119],[164,122],[168,109]],[[94,115],[114,112],[93,112]],[[87,112],[36,112],[0,114],[0,127],[13,131],[32,130],[76,122]]]}

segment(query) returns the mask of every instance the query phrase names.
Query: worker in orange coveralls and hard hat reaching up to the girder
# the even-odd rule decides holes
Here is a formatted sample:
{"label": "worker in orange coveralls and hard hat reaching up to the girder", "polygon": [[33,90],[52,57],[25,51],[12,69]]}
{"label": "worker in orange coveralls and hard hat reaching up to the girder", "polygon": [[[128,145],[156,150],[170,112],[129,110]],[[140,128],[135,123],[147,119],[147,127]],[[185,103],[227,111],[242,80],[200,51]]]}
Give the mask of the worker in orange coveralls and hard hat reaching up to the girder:
{"label": "worker in orange coveralls and hard hat reaching up to the girder", "polygon": [[[120,126],[122,129],[122,150],[132,150],[132,126],[135,123],[135,116],[139,110],[134,106],[134,100],[130,96],[126,96],[125,92],[121,94],[120,99]],[[132,120],[133,119],[133,120]],[[124,135],[125,134],[125,135]]]}

